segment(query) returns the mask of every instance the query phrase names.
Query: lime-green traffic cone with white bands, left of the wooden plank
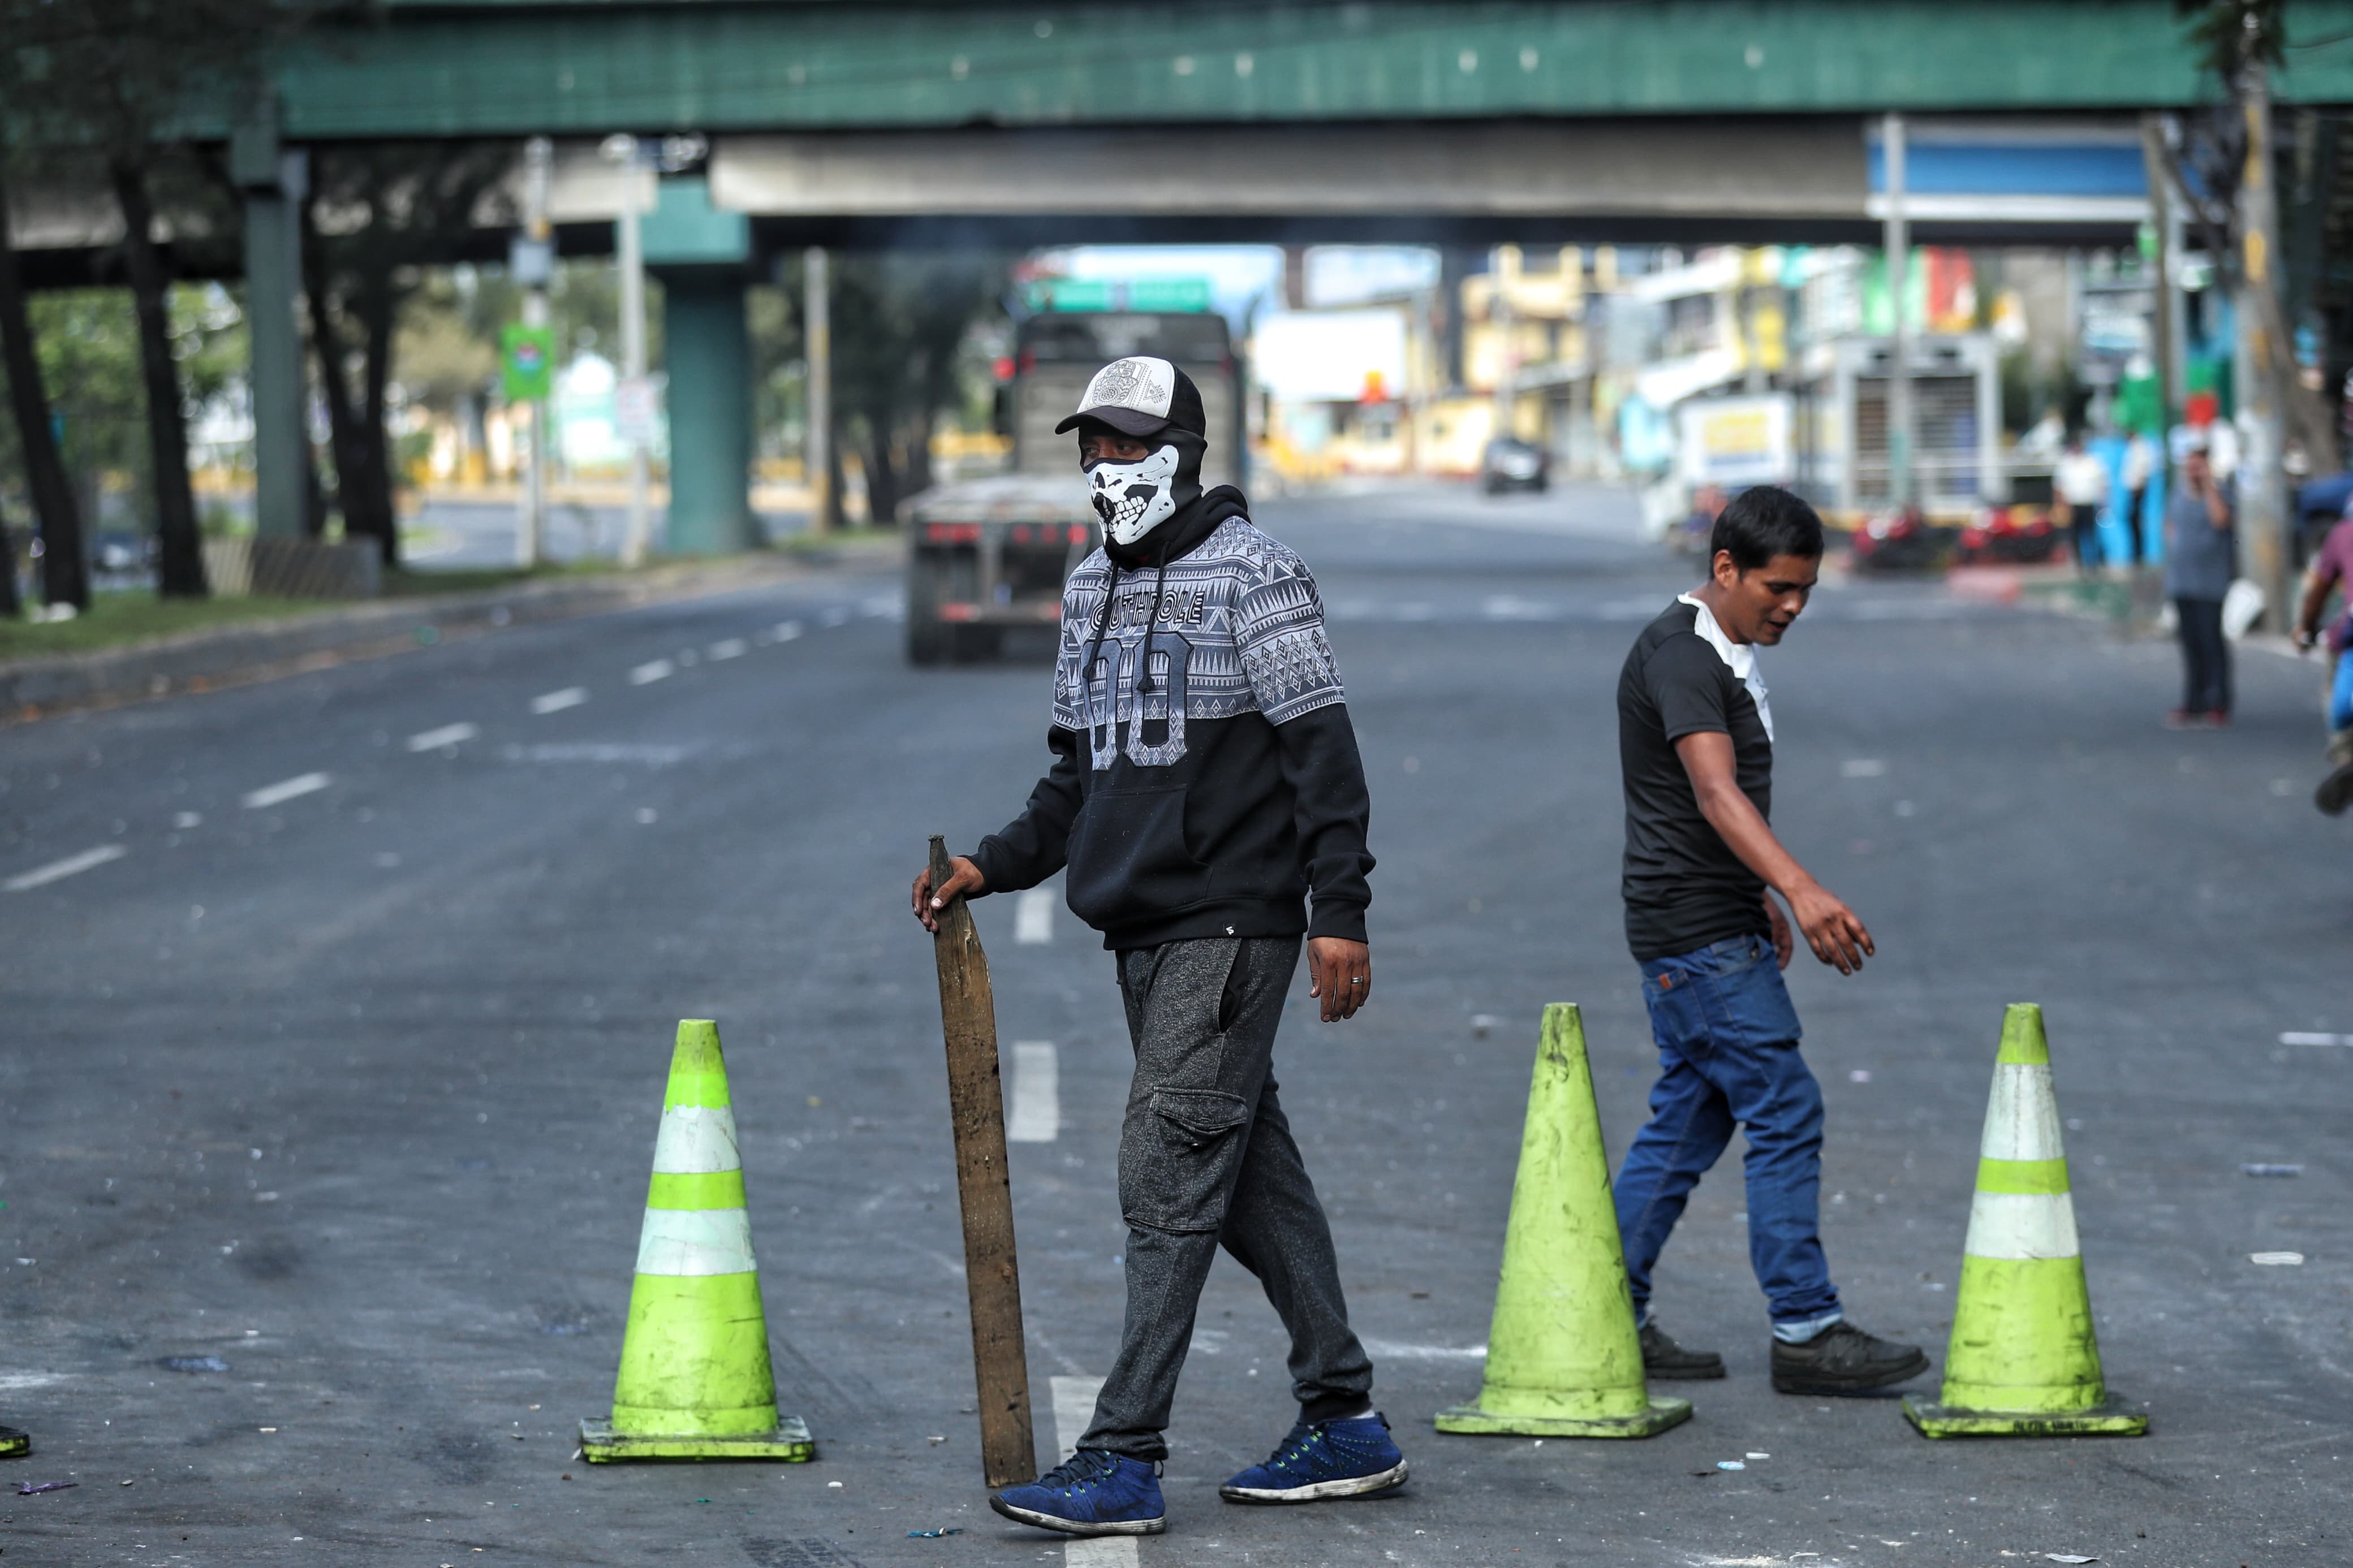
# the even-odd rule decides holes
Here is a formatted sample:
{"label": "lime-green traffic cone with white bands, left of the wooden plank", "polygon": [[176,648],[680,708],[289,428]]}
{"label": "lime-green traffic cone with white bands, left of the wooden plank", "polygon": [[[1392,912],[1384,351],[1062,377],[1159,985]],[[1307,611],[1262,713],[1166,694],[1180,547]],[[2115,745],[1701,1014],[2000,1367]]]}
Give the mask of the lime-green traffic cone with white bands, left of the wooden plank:
{"label": "lime-green traffic cone with white bands, left of the wooden plank", "polygon": [[581,1453],[593,1465],[816,1458],[798,1415],[776,1420],[727,1063],[706,1018],[678,1025],[612,1420],[581,1422]]}

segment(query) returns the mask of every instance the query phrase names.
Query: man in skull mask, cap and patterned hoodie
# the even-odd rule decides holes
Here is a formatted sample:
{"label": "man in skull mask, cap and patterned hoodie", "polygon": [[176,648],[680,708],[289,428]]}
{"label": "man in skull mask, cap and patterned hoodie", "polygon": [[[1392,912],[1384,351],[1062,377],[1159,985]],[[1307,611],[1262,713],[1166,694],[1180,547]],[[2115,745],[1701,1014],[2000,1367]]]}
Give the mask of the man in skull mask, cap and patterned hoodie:
{"label": "man in skull mask, cap and patterned hoodie", "polygon": [[951,898],[1068,867],[1071,912],[1113,952],[1136,1056],[1120,1128],[1127,1328],[1078,1453],[991,1507],[1068,1535],[1158,1535],[1162,1429],[1219,1246],[1282,1316],[1299,1399],[1289,1436],[1219,1495],[1313,1502],[1405,1481],[1271,1072],[1301,938],[1325,1023],[1372,992],[1372,806],[1315,578],[1252,527],[1238,489],[1202,494],[1193,381],[1115,360],[1068,430],[1106,538],[1061,597],[1054,766],[946,884],[915,877],[915,919],[936,929]]}

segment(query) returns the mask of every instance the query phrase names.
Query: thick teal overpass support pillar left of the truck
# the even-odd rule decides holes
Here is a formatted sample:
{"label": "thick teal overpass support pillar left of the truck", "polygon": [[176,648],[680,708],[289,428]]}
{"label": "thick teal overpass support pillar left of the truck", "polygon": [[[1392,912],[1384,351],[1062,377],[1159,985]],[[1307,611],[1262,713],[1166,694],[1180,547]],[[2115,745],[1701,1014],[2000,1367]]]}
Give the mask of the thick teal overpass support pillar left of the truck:
{"label": "thick teal overpass support pillar left of the truck", "polygon": [[751,515],[751,221],[711,207],[701,179],[661,181],[645,221],[645,263],[661,277],[671,411],[671,555],[760,545]]}

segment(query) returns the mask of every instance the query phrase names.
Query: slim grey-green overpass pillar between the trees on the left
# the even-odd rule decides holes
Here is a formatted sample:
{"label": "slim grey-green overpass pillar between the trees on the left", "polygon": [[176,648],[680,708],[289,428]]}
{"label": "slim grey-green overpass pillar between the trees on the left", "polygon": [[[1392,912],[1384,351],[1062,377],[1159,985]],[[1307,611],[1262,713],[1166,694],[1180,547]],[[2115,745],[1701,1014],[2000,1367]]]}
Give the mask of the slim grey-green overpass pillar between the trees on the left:
{"label": "slim grey-green overpass pillar between the trees on the left", "polygon": [[275,106],[235,129],[231,174],[245,197],[245,322],[254,400],[254,534],[301,538],[311,505],[304,430],[301,329],[301,205],[308,197],[308,153],[278,141]]}

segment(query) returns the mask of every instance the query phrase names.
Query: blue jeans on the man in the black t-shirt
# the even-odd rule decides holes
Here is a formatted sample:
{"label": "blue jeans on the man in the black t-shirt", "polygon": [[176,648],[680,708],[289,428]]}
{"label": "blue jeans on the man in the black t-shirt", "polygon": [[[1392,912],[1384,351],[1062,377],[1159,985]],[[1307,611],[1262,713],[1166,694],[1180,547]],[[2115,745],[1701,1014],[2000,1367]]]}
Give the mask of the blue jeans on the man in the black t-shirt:
{"label": "blue jeans on the man in the black t-shirt", "polygon": [[1821,1255],[1821,1086],[1798,1056],[1772,943],[1734,936],[1642,964],[1642,1001],[1659,1041],[1649,1124],[1614,1185],[1633,1305],[1649,1309],[1649,1272],[1692,1187],[1748,1135],[1748,1262],[1774,1324],[1838,1314]]}

